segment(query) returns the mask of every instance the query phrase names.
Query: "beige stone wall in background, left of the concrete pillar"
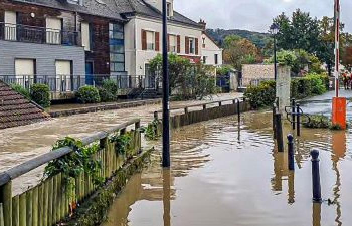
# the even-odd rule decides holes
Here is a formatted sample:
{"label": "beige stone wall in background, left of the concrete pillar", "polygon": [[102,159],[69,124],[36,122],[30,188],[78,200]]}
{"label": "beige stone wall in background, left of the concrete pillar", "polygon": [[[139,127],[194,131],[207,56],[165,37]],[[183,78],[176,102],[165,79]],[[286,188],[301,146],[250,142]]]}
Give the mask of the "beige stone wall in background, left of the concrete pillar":
{"label": "beige stone wall in background, left of the concrete pillar", "polygon": [[242,65],[242,85],[249,86],[252,80],[274,80],[274,64],[244,64]]}

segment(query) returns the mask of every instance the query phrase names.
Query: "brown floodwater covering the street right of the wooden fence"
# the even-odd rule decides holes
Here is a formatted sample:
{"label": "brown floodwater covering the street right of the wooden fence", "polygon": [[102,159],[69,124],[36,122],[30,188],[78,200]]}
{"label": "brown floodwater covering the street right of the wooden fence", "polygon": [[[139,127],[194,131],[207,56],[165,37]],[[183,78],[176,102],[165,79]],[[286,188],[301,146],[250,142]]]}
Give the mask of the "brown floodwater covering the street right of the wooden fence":
{"label": "brown floodwater covering the street right of the wooden fence", "polygon": [[[245,114],[240,134],[235,121],[175,131],[171,170],[161,169],[156,152],[115,200],[104,226],[350,225],[350,131],[303,130],[292,173],[287,153],[275,151],[270,113]],[[322,196],[331,205],[311,201],[312,147],[321,150]]]}

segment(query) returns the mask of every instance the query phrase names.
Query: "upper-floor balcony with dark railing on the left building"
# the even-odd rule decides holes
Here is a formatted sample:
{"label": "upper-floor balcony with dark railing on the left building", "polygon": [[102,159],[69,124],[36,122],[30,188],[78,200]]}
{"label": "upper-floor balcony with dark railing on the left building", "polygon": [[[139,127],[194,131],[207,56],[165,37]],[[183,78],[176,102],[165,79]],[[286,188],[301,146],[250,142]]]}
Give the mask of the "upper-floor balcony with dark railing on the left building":
{"label": "upper-floor balcony with dark railing on the left building", "polygon": [[0,40],[37,44],[80,46],[79,32],[0,22]]}

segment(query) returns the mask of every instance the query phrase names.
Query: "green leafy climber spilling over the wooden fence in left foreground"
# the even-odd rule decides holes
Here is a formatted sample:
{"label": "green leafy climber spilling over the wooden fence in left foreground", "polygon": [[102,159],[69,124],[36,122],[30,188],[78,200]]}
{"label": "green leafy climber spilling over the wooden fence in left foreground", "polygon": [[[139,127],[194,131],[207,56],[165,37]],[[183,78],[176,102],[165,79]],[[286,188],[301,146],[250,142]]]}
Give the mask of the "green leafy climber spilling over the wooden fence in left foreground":
{"label": "green leafy climber spilling over the wooden fence in left foreground", "polygon": [[44,178],[54,176],[62,172],[66,184],[85,172],[92,176],[95,184],[103,183],[103,178],[98,176],[101,162],[94,160],[94,155],[99,150],[99,144],[84,146],[80,140],[71,137],[58,140],[52,148],[55,152],[62,147],[71,147],[72,152],[48,163],[44,170]]}

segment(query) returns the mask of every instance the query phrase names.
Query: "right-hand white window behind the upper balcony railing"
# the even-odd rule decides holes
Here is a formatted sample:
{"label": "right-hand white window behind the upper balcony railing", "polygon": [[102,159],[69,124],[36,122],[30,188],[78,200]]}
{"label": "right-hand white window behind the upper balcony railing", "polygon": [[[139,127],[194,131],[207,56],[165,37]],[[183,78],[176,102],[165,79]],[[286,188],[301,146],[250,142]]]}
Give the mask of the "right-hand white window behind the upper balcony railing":
{"label": "right-hand white window behind the upper balcony railing", "polygon": [[46,43],[61,44],[62,21],[59,18],[46,19]]}

